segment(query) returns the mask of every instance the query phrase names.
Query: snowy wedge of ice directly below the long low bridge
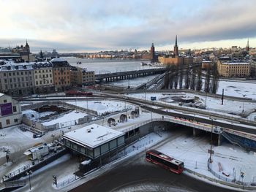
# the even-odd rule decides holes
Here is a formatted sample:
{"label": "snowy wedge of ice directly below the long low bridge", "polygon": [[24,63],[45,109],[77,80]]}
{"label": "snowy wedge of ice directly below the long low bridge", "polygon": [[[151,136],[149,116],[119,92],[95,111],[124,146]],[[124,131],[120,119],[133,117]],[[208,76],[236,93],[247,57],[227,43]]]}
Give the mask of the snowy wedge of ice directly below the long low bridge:
{"label": "snowy wedge of ice directly below the long low bridge", "polygon": [[128,86],[130,86],[131,88],[135,88],[143,83],[153,80],[157,76],[159,76],[159,74],[154,74],[154,75],[150,75],[150,76],[146,76],[146,77],[138,77],[138,78],[130,79],[130,80],[113,81],[113,82],[108,82],[108,85],[115,85],[115,86],[126,87],[126,88],[128,88]]}

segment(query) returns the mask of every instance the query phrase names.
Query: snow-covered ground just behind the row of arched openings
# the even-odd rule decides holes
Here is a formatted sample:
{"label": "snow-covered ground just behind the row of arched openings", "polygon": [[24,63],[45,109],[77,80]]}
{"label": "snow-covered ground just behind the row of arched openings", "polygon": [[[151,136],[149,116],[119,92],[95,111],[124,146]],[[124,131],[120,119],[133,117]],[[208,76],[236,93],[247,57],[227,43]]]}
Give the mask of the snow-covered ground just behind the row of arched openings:
{"label": "snow-covered ground just behind the row of arched openings", "polygon": [[67,101],[68,104],[73,104],[79,107],[83,107],[89,110],[94,110],[98,112],[98,115],[102,115],[105,112],[116,112],[124,109],[132,108],[132,105],[127,104],[122,101],[110,101],[110,100],[102,100],[102,101]]}

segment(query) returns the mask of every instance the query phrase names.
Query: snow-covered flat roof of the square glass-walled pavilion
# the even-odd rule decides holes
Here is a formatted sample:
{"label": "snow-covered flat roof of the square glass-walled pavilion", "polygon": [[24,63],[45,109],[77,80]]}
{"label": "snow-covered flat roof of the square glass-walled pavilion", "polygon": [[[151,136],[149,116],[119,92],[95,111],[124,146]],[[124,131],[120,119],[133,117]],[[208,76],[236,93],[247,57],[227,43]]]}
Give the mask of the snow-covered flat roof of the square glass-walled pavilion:
{"label": "snow-covered flat roof of the square glass-walled pavilion", "polygon": [[106,142],[110,142],[113,139],[124,135],[121,131],[113,130],[105,126],[99,126],[92,124],[83,128],[78,128],[75,131],[70,131],[64,134],[64,139],[68,139],[72,142],[78,142],[82,145],[95,148],[99,145],[103,145]]}

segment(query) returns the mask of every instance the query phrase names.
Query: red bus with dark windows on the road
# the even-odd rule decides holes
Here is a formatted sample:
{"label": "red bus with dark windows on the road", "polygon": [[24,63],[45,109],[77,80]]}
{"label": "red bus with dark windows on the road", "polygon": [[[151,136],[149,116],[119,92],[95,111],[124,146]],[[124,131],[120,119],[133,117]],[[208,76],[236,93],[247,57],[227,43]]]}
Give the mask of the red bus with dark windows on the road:
{"label": "red bus with dark windows on the road", "polygon": [[148,150],[146,152],[146,161],[162,166],[176,174],[181,174],[184,170],[183,162],[171,158],[157,150]]}

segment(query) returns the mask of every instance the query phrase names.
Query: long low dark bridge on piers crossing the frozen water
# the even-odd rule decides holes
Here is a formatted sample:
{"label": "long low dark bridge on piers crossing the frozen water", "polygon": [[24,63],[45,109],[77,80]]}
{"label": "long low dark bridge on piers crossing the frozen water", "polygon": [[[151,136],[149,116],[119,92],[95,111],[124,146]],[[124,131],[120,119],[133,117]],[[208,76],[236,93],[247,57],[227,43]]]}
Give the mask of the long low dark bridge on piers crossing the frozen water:
{"label": "long low dark bridge on piers crossing the frozen water", "polygon": [[95,80],[99,82],[110,82],[118,80],[129,80],[130,78],[144,77],[153,74],[162,74],[165,72],[165,68],[154,68],[154,69],[141,69],[128,72],[115,72],[105,74],[95,74]]}

